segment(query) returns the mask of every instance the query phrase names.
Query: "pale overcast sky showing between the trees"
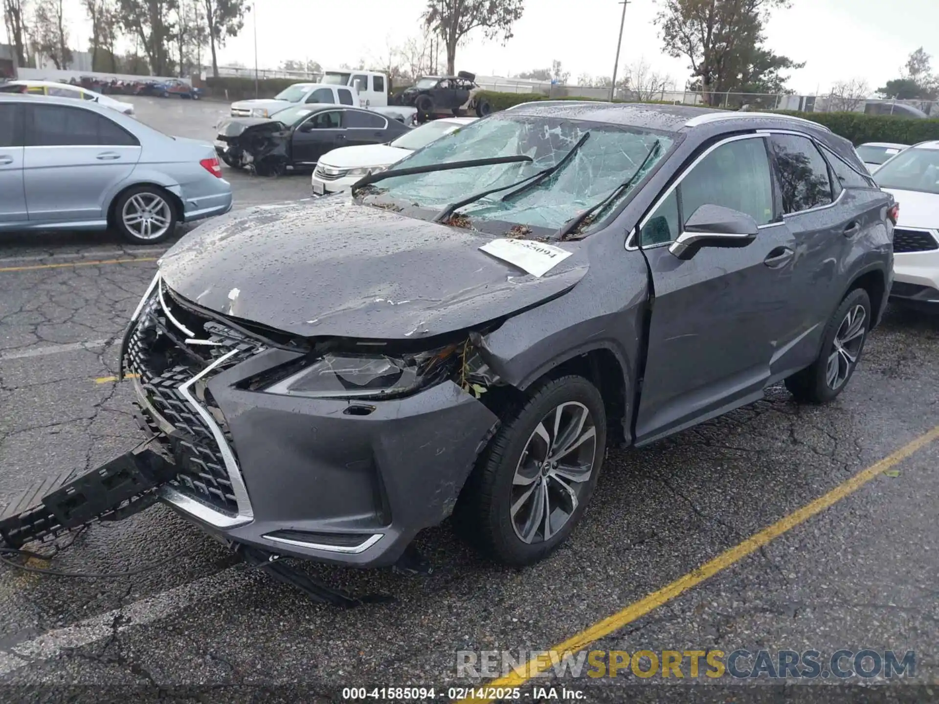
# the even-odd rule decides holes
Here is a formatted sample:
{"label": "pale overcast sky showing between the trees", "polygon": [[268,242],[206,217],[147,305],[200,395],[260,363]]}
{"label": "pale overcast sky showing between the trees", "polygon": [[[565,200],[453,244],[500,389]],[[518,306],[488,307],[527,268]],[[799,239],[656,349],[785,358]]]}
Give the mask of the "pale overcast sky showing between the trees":
{"label": "pale overcast sky showing between the trees", "polygon": [[[74,22],[72,44],[87,48],[90,34],[79,0],[66,0]],[[899,75],[906,56],[923,46],[939,69],[937,0],[792,0],[767,27],[767,46],[805,61],[791,87],[802,94],[826,92],[832,83],[865,79],[875,90]],[[424,0],[256,0],[258,63],[276,68],[286,59],[314,59],[324,67],[375,63],[386,47],[420,33]],[[630,0],[621,66],[645,58],[670,73],[679,87],[687,61],[662,53],[654,0]],[[471,35],[456,54],[456,69],[508,76],[562,61],[571,79],[581,73],[610,75],[622,6],[617,0],[527,0],[506,45]],[[77,41],[76,41],[77,39]],[[370,60],[376,60],[375,62]],[[254,66],[254,19],[229,40],[220,63]],[[622,69],[621,69],[622,70]]]}

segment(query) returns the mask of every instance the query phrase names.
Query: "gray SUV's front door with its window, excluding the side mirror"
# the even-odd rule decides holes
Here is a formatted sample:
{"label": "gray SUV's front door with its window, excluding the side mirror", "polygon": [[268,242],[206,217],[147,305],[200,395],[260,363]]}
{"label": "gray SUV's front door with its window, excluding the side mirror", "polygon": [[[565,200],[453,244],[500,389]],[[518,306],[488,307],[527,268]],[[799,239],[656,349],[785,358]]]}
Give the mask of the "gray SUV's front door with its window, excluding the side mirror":
{"label": "gray SUV's front door with its window, excluding the side mirror", "polygon": [[[712,146],[640,222],[654,299],[638,444],[760,398],[774,356],[798,336],[795,240],[776,201],[766,139],[745,135]],[[750,215],[759,235],[679,259],[669,244],[703,205]]]}

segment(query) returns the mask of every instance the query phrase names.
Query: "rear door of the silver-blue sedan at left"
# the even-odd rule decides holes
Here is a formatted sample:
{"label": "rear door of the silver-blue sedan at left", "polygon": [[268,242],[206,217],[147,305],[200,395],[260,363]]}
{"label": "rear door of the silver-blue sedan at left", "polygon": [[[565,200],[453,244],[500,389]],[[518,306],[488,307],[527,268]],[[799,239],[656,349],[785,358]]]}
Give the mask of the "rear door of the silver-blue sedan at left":
{"label": "rear door of the silver-blue sedan at left", "polygon": [[25,106],[23,185],[31,221],[100,221],[140,160],[140,143],[82,107]]}

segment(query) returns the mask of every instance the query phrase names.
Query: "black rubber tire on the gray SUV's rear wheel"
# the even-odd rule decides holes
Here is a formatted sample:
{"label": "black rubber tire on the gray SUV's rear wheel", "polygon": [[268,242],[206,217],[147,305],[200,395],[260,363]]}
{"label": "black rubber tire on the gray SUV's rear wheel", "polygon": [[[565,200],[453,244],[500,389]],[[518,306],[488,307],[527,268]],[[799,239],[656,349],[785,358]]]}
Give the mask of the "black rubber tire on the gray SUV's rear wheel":
{"label": "black rubber tire on the gray SUV's rear wheel", "polygon": [[[861,321],[863,329],[859,336],[855,336],[848,341],[849,344],[840,344],[841,337],[844,337],[845,333],[850,331],[850,326],[845,329],[845,326],[849,323],[848,316],[854,314],[858,308],[863,309],[864,312],[864,319]],[[856,318],[854,322],[856,322]],[[818,358],[812,362],[811,366],[786,379],[786,388],[790,390],[796,401],[808,404],[826,404],[834,400],[848,386],[848,382],[851,381],[851,377],[854,375],[854,370],[857,369],[857,362],[860,361],[864,352],[864,344],[867,342],[871,322],[868,292],[863,288],[855,288],[844,297],[838,310],[835,311],[835,314],[828,321],[828,325],[825,326],[824,335],[822,336],[822,349]],[[840,354],[835,344],[836,336],[839,336],[839,346],[844,350]],[[833,386],[829,361],[836,354],[839,354],[839,357],[835,358],[839,368],[836,372],[837,383]],[[852,356],[854,361],[850,360]],[[842,370],[844,370],[843,374]]]}

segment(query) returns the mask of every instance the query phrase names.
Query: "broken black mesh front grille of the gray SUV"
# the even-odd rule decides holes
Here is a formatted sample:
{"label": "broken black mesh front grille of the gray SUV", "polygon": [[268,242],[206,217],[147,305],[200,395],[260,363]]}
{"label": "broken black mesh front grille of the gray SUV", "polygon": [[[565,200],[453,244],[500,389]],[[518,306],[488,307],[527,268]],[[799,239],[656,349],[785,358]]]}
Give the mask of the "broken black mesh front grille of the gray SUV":
{"label": "broken black mesh front grille of the gray SUV", "polygon": [[[174,428],[167,444],[181,469],[174,482],[175,488],[215,511],[237,515],[239,492],[232,475],[238,475],[240,482],[238,455],[227,422],[207,384],[214,375],[262,352],[265,347],[235,329],[183,308],[165,287],[161,301],[162,285],[162,282],[157,284],[134,324],[125,351],[125,364],[130,374],[137,375],[153,409]],[[194,333],[193,338],[179,329],[177,323]],[[192,339],[211,344],[194,344]],[[190,384],[193,377],[233,352],[223,364]],[[208,413],[234,459],[234,467],[226,465],[213,428],[183,389],[188,389],[195,403]],[[144,412],[146,414],[146,408]]]}

